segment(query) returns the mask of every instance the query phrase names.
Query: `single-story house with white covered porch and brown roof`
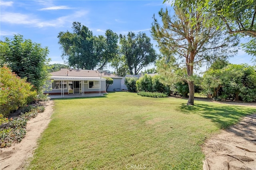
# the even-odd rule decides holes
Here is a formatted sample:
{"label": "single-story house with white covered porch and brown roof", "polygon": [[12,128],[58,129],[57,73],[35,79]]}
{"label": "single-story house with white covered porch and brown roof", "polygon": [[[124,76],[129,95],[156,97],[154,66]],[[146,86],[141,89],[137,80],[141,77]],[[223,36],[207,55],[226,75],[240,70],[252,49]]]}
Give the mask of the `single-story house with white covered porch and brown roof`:
{"label": "single-story house with white covered porch and brown roof", "polygon": [[[61,68],[59,71],[51,72],[49,86],[44,94],[68,95],[86,93],[106,93],[107,91],[121,91],[121,79],[116,76],[99,70],[79,70]],[[106,78],[113,79],[113,84],[106,89]]]}

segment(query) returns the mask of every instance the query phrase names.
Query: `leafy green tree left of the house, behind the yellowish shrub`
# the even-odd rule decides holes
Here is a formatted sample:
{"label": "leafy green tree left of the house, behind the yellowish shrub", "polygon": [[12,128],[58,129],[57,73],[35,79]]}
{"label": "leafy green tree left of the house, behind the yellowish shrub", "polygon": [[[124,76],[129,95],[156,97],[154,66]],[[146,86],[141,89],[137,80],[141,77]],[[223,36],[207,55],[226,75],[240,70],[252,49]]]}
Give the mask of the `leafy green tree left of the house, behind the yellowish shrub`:
{"label": "leafy green tree left of the house, behind the yellowish shrub", "polygon": [[47,47],[42,48],[39,43],[23,39],[20,34],[0,41],[0,64],[7,64],[19,77],[26,78],[38,93],[42,93],[49,79],[48,53]]}

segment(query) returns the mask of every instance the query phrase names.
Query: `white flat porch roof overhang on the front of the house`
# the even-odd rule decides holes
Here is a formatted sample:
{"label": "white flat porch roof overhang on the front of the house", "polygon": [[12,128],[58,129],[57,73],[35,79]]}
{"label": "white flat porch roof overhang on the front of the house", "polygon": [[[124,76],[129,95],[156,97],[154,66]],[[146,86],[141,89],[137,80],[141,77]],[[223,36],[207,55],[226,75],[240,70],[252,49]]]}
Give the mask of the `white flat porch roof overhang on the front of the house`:
{"label": "white flat porch roof overhang on the front of the house", "polygon": [[80,81],[80,80],[89,80],[89,81],[104,81],[106,78],[101,77],[80,77],[80,76],[51,76],[52,80],[72,80],[72,81]]}

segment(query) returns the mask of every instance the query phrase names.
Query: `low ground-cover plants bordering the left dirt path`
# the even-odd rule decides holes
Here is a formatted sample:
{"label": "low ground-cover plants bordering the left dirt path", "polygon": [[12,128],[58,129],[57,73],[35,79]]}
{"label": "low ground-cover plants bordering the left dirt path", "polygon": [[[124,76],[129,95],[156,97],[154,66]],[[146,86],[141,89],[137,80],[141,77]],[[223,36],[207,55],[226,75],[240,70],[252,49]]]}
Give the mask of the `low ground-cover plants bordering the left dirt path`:
{"label": "low ground-cover plants bordering the left dirt path", "polygon": [[44,111],[44,106],[26,106],[19,117],[5,118],[0,114],[0,147],[9,147],[12,143],[19,143],[26,135],[27,121]]}

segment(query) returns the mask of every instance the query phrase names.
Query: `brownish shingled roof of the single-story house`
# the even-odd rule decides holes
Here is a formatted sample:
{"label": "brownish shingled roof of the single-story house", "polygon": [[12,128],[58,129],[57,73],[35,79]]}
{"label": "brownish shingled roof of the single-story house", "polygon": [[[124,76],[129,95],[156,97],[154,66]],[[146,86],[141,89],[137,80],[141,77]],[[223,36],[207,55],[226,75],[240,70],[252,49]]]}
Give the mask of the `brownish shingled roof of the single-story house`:
{"label": "brownish shingled roof of the single-story house", "polygon": [[111,77],[111,78],[123,78],[107,72],[100,73],[98,70],[78,70],[78,69],[67,69],[60,68],[59,71],[51,72],[52,76],[66,76],[69,77]]}

